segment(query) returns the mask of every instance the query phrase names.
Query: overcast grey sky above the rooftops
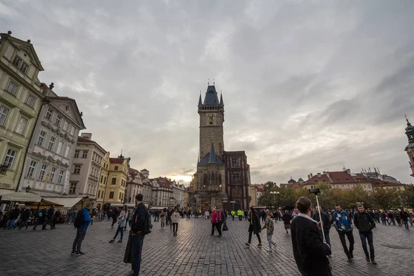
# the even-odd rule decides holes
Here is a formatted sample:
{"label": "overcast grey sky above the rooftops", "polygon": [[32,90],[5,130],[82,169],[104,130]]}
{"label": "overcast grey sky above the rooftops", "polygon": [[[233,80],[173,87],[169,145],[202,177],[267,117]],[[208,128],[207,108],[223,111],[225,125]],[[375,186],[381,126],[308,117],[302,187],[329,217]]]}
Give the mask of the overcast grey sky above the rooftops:
{"label": "overcast grey sky above the rooftops", "polygon": [[343,165],[414,180],[414,1],[1,0],[0,26],[32,41],[92,139],[150,177],[195,172],[215,79],[225,150],[246,150],[252,183]]}

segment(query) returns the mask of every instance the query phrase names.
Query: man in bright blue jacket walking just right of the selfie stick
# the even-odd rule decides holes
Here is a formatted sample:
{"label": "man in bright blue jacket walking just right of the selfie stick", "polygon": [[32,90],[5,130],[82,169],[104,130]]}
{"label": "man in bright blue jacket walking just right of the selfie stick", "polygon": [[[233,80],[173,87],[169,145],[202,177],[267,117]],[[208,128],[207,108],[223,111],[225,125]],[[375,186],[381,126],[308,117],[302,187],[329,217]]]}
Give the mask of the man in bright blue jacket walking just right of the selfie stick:
{"label": "man in bright blue jacket walking just right of the selfie stick", "polygon": [[[341,241],[342,247],[344,247],[344,252],[346,257],[348,257],[348,262],[352,262],[354,246],[353,224],[348,213],[346,213],[346,210],[342,210],[339,204],[335,206],[335,209],[336,211],[333,213],[333,217],[336,219],[336,230],[339,235],[339,240]],[[346,246],[345,236],[349,241],[349,249]]]}

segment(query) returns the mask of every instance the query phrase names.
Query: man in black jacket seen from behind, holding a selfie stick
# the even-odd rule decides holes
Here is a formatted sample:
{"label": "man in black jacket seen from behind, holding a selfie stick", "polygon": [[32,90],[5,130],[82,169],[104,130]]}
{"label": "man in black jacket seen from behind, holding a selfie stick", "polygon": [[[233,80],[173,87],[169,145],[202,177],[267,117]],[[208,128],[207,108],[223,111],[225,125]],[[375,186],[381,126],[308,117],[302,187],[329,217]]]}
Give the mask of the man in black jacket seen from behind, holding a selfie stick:
{"label": "man in black jacket seen from behind, holding a selfie stick", "polygon": [[293,255],[302,276],[332,276],[331,266],[326,256],[331,248],[324,244],[319,230],[321,222],[311,219],[312,203],[308,197],[300,197],[296,202],[299,215],[292,221],[291,235]]}

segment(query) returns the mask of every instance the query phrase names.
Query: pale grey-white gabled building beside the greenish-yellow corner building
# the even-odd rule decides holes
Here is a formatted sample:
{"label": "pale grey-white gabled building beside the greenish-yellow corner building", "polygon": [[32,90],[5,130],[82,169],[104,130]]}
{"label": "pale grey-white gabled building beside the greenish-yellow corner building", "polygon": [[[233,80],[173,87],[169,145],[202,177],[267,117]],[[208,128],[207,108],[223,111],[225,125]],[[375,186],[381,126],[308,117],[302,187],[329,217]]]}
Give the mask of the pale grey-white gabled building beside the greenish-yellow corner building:
{"label": "pale grey-white gabled building beside the greenish-yellow corner building", "polygon": [[41,108],[29,144],[21,188],[42,196],[68,195],[70,169],[79,130],[85,129],[76,101],[59,97],[42,83],[49,103]]}

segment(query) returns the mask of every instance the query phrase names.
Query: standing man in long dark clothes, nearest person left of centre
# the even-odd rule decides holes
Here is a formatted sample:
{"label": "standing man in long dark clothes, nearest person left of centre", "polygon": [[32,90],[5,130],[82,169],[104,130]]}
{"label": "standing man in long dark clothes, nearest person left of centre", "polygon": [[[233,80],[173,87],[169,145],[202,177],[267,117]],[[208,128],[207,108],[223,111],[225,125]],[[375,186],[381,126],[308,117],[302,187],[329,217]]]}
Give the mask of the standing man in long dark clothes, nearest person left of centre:
{"label": "standing man in long dark clothes, nearest person left of centre", "polygon": [[135,210],[134,217],[132,217],[131,235],[132,235],[132,275],[138,276],[141,269],[141,253],[144,244],[144,237],[150,233],[152,225],[150,224],[151,216],[142,200],[144,195],[138,194],[135,196]]}

